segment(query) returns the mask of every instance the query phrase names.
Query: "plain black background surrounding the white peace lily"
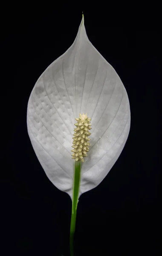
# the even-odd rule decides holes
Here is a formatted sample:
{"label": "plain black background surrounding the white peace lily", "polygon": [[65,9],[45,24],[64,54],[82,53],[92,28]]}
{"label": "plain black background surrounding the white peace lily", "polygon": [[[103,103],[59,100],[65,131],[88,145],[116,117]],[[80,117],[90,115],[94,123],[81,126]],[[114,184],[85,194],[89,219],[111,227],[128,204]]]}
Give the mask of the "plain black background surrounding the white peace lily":
{"label": "plain black background surrounding the white peace lily", "polygon": [[[2,10],[1,255],[69,256],[71,199],[46,177],[26,127],[35,82],[71,46],[81,23],[84,9],[63,6]],[[79,199],[76,256],[160,255],[159,14],[158,7],[128,9],[84,12],[89,40],[127,90],[131,127],[111,171]]]}

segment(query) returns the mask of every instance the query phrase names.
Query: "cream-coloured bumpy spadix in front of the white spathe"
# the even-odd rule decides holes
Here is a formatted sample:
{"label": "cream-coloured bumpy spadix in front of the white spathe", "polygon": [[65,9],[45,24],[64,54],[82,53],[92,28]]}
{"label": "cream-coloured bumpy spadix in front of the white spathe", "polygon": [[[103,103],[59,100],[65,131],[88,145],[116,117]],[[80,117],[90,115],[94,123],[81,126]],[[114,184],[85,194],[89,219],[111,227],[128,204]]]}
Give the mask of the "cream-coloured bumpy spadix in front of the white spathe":
{"label": "cream-coloured bumpy spadix in front of the white spathe", "polygon": [[72,159],[75,159],[76,161],[81,160],[81,162],[84,162],[84,157],[87,157],[87,152],[89,151],[90,146],[90,139],[88,136],[90,136],[90,132],[88,130],[92,129],[90,120],[91,118],[88,118],[87,114],[79,114],[79,118],[75,118],[76,121],[78,121],[74,129],[75,133],[73,134],[74,137],[72,137]]}

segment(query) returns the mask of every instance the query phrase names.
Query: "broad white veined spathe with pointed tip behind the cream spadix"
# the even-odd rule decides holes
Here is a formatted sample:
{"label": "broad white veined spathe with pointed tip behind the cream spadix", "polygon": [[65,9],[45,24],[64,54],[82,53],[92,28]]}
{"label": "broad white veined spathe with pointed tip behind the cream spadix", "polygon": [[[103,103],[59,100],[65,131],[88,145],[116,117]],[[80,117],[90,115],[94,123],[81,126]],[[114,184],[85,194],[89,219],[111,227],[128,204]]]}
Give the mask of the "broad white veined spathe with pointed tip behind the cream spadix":
{"label": "broad white veined spathe with pointed tip behind the cream spadix", "polygon": [[79,113],[92,119],[80,196],[101,183],[121,154],[130,130],[127,92],[116,71],[87,38],[84,18],[72,46],[36,82],[27,107],[35,154],[49,180],[71,198],[72,134]]}

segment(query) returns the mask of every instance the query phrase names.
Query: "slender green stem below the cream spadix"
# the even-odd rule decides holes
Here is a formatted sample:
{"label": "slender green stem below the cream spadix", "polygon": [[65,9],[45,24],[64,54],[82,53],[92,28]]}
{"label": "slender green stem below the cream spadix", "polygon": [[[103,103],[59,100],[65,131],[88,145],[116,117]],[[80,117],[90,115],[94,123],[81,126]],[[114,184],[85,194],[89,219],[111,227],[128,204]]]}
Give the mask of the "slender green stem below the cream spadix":
{"label": "slender green stem below the cream spadix", "polygon": [[80,177],[81,177],[81,161],[75,161],[73,195],[72,195],[72,216],[71,216],[71,224],[70,224],[70,255],[71,256],[74,256],[74,233],[75,233],[76,212],[77,212],[78,195],[79,195],[79,187],[80,187]]}

